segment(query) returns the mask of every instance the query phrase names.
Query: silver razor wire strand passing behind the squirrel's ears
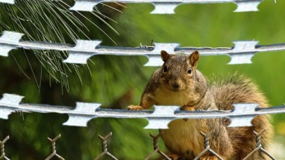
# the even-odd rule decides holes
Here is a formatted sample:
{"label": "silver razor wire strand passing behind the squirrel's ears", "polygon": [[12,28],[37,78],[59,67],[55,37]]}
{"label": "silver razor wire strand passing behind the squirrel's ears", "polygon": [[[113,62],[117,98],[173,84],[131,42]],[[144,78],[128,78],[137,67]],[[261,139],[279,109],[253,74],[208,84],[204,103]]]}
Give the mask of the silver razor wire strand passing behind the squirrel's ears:
{"label": "silver razor wire strand passing behind the squirrel's ears", "polygon": [[87,64],[87,60],[93,55],[144,55],[148,58],[145,66],[161,66],[160,51],[169,53],[191,54],[199,51],[201,55],[228,55],[231,61],[228,64],[251,63],[253,55],[267,51],[285,51],[285,44],[258,45],[258,41],[234,41],[234,46],[229,47],[180,47],[179,44],[154,43],[148,48],[132,48],[117,46],[101,46],[99,40],[78,39],[75,45],[56,44],[46,41],[22,41],[24,34],[4,31],[0,37],[0,55],[8,56],[8,52],[15,48],[34,50],[68,51],[69,56],[63,62]]}

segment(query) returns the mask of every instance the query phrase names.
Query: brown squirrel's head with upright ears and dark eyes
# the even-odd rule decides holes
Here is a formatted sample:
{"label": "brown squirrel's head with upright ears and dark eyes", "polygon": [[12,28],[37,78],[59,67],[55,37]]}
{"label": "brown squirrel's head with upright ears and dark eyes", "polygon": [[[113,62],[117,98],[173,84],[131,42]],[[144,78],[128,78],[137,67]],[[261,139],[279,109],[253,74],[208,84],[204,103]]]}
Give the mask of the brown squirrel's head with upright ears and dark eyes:
{"label": "brown squirrel's head with upright ears and dark eyes", "polygon": [[200,54],[194,51],[191,55],[168,54],[161,51],[163,66],[160,69],[160,83],[171,91],[187,89],[194,92],[203,92],[207,88],[205,78],[196,68]]}

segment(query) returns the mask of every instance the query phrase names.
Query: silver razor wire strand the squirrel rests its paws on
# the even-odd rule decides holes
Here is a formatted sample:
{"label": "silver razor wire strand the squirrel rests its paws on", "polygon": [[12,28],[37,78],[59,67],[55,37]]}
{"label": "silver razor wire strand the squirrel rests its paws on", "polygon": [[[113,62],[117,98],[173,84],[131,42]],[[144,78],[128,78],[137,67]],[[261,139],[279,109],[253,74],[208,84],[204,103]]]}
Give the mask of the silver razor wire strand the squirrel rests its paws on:
{"label": "silver razor wire strand the squirrel rests its paws on", "polygon": [[91,119],[105,118],[142,118],[148,120],[145,128],[167,128],[167,124],[175,119],[231,119],[230,127],[252,126],[251,121],[261,114],[285,113],[285,106],[260,108],[257,104],[234,104],[234,109],[228,111],[182,111],[177,106],[154,106],[155,109],[142,111],[129,111],[127,109],[104,109],[99,103],[77,102],[76,107],[42,105],[23,103],[23,96],[4,93],[0,100],[0,118],[8,119],[8,115],[16,110],[22,112],[58,113],[68,114],[69,119],[63,125],[87,126]]}

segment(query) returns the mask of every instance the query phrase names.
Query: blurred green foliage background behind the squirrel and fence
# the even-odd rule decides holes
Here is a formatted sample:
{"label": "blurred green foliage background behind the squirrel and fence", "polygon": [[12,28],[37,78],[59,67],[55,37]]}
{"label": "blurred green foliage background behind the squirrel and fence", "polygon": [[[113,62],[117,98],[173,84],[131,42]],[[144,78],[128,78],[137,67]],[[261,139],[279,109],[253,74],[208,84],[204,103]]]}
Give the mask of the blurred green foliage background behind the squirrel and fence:
{"label": "blurred green foliage background behind the squirrel and fence", "polygon": [[[75,20],[73,15],[64,16],[61,10],[55,9],[58,5],[55,2],[50,3],[54,5],[52,12],[51,8],[44,6],[44,2],[38,6],[20,3],[24,2],[19,1],[18,6],[1,4],[1,32],[8,29],[30,33],[24,39],[74,44],[76,38],[72,38],[72,32],[64,26],[49,26],[65,21],[75,32],[73,34],[78,35],[77,38],[87,39],[88,36],[90,39],[101,39],[102,45],[106,46],[150,45],[152,39],[154,42],[196,47],[232,47],[232,41],[236,40],[256,40],[261,45],[285,43],[285,1],[281,0],[277,4],[273,0],[262,1],[258,7],[260,11],[248,13],[233,13],[235,4],[183,4],[175,9],[174,15],[151,15],[149,13],[154,8],[151,4],[124,4],[127,8],[109,4],[122,13],[101,5],[95,14],[74,13],[83,25],[72,25],[72,20]],[[67,3],[72,5],[74,2]],[[21,9],[23,5],[34,5],[31,7],[34,13],[25,15]],[[37,9],[39,6],[42,10]],[[56,14],[61,15],[63,20],[53,21],[56,18],[52,15]],[[11,20],[11,16],[15,15],[19,15],[20,19]],[[106,20],[118,34],[100,18]],[[9,53],[8,57],[0,57],[1,94],[23,95],[23,102],[68,106],[75,106],[76,101],[99,102],[104,107],[125,108],[139,103],[144,86],[157,69],[143,67],[147,58],[139,56],[96,55],[88,65],[63,65],[61,60],[66,53],[47,53],[24,53],[18,49]],[[246,74],[260,86],[272,106],[284,103],[284,51],[258,53],[252,59],[253,64],[247,65],[227,65],[229,60],[227,56],[203,56],[198,69],[208,78],[213,74],[236,71]],[[113,132],[113,136],[108,149],[118,159],[144,159],[153,151],[148,133],[158,133],[156,130],[144,130],[147,124],[144,119],[93,119],[88,127],[80,128],[63,126],[67,115],[24,113],[24,117],[23,120],[20,114],[13,113],[8,120],[0,119],[0,140],[10,135],[5,152],[11,159],[45,159],[51,153],[46,138],[54,138],[59,133],[61,138],[56,142],[58,154],[65,159],[94,159],[101,153],[98,134],[107,135],[109,132]],[[285,116],[274,115],[272,124],[275,136],[270,152],[277,159],[285,159]],[[160,147],[164,149],[161,141]]]}

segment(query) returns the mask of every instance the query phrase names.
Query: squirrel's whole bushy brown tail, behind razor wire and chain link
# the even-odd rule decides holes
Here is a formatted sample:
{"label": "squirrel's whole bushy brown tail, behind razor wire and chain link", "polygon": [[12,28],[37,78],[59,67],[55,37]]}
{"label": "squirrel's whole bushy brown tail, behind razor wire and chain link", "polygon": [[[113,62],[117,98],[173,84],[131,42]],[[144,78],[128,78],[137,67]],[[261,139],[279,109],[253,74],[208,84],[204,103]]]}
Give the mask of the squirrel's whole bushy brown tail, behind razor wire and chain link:
{"label": "squirrel's whole bushy brown tail, behind razor wire and chain link", "polygon": [[[221,76],[220,76],[221,77]],[[214,78],[211,82],[211,91],[215,98],[217,107],[221,110],[229,110],[233,108],[234,103],[258,103],[260,107],[268,107],[268,100],[260,91],[258,86],[251,79],[240,74],[230,74],[225,78]],[[224,125],[228,125],[229,121],[224,119]],[[255,135],[253,131],[260,133],[266,128],[262,134],[262,146],[266,149],[272,139],[272,125],[270,124],[269,115],[255,116],[252,127],[227,127],[229,138],[232,145],[237,151],[236,159],[243,159],[255,149]],[[238,147],[236,147],[238,146]],[[258,152],[251,156],[251,159],[268,159],[265,154]]]}

